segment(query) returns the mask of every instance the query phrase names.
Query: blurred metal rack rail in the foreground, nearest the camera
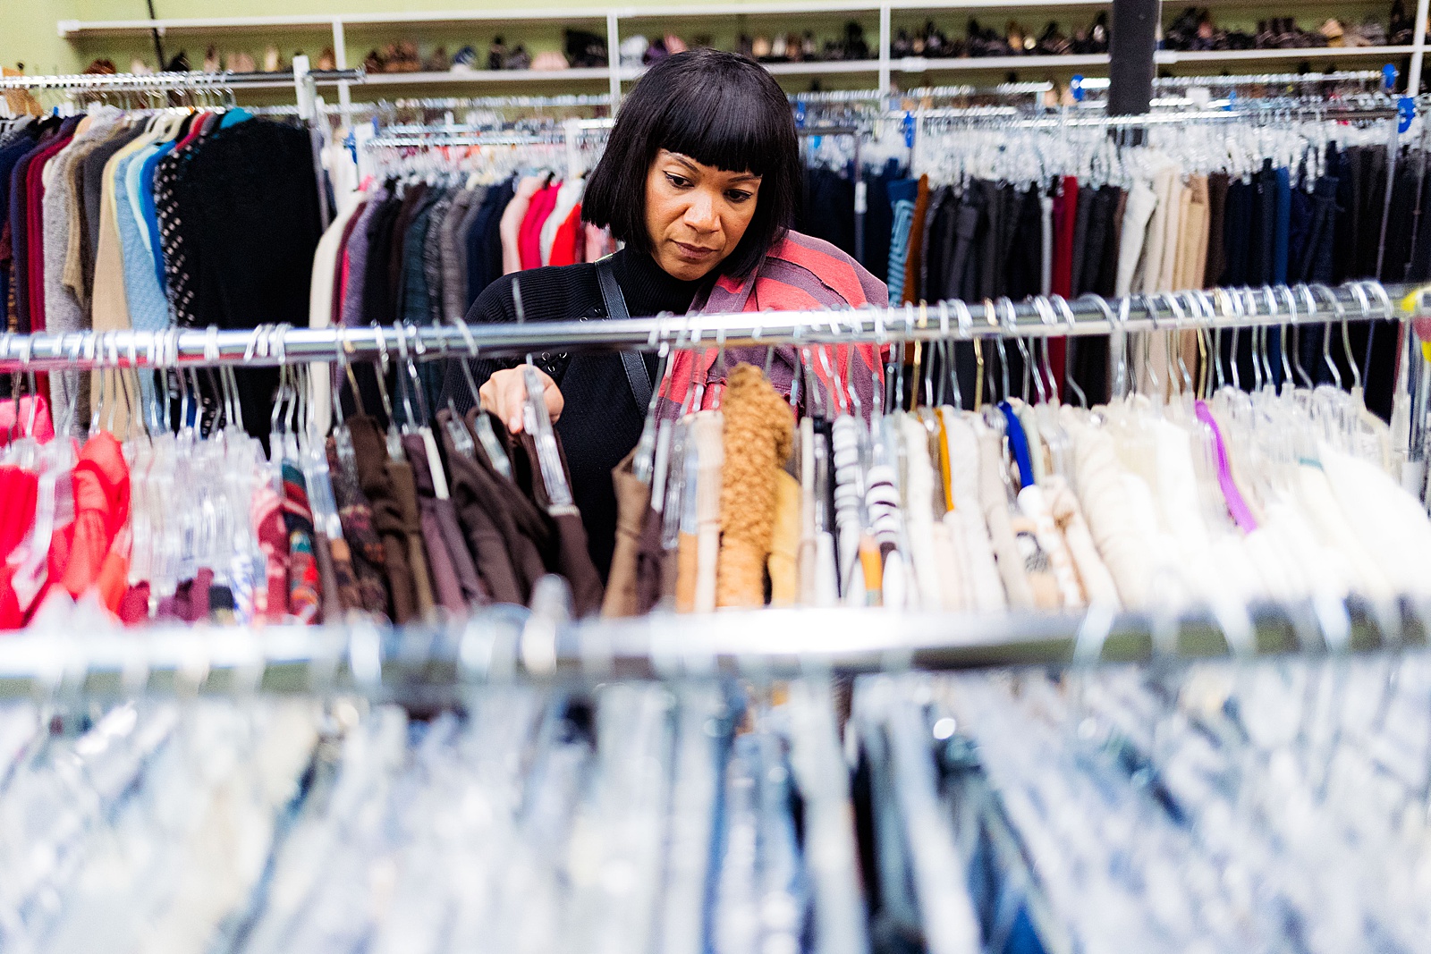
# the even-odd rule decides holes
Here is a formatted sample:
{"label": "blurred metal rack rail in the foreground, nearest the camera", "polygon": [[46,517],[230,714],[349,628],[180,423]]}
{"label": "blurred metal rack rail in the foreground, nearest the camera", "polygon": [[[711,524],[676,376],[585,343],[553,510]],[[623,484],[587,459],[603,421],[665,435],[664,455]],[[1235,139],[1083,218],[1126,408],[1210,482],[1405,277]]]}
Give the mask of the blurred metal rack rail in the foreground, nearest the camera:
{"label": "blurred metal rack rail in the foreground, nearest the camera", "polygon": [[489,612],[448,628],[155,628],[74,635],[43,625],[0,642],[0,699],[136,694],[444,695],[485,682],[794,678],[811,674],[1090,665],[1420,648],[1427,606],[1322,601],[1182,616],[761,609],[572,622]]}

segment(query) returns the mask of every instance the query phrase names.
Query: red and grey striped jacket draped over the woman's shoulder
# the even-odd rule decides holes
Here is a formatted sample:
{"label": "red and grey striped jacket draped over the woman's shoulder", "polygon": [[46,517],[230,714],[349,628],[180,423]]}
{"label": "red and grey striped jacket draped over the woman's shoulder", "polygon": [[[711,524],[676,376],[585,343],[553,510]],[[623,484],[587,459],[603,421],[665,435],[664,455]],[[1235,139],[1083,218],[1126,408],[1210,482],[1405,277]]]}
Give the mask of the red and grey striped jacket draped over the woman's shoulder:
{"label": "red and grey striped jacket draped over the woman's shoulder", "polygon": [[[889,290],[884,282],[866,272],[859,262],[823,239],[788,232],[766,255],[754,275],[746,279],[723,275],[705,300],[697,300],[691,310],[703,315],[840,310],[886,302]],[[718,408],[726,390],[726,373],[740,362],[763,368],[767,349],[727,348],[723,365],[717,362],[718,353],[716,348],[675,353],[665,380],[661,382],[660,416],[674,419],[683,409],[690,412]],[[770,382],[776,390],[788,395],[797,369],[813,372],[813,376],[803,378],[800,405],[830,416],[839,410],[859,410],[867,418],[874,402],[876,382],[884,380],[880,355],[871,345],[801,348],[800,355],[788,346],[774,349]],[[811,380],[819,389],[816,395],[809,393]],[[697,388],[697,382],[705,383],[704,390]],[[694,406],[697,393],[700,408]],[[685,406],[688,399],[691,406]]]}

